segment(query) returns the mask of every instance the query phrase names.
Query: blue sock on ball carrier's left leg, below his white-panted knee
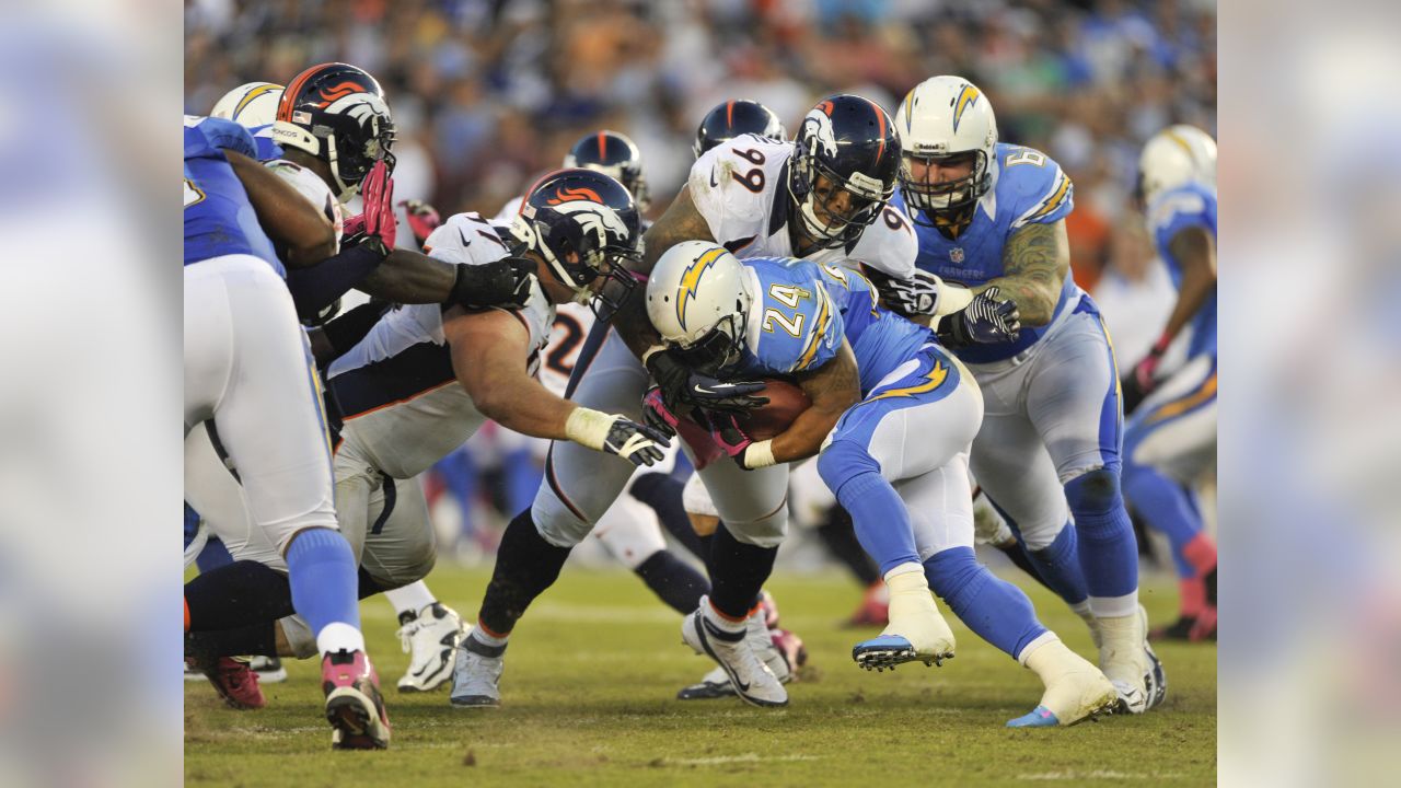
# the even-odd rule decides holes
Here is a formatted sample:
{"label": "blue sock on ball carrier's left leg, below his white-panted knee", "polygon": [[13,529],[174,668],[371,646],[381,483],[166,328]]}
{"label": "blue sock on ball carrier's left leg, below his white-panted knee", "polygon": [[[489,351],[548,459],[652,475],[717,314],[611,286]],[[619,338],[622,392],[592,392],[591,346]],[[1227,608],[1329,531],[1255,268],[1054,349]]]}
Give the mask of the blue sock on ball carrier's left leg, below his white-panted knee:
{"label": "blue sock on ball carrier's left leg, below his white-panted knee", "polygon": [[857,541],[880,564],[883,576],[901,564],[919,562],[905,502],[881,478],[880,464],[864,446],[834,440],[818,456],[817,473],[850,513]]}

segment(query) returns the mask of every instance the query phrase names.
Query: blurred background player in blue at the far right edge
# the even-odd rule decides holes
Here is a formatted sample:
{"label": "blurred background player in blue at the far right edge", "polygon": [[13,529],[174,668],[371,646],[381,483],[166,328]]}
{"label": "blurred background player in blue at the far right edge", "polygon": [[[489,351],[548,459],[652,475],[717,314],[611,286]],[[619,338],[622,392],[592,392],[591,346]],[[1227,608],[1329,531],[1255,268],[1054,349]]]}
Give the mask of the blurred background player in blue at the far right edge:
{"label": "blurred background player in blue at the far right edge", "polygon": [[[1194,485],[1216,457],[1216,140],[1194,126],[1153,136],[1139,157],[1149,234],[1177,285],[1177,304],[1147,356],[1124,376],[1124,494],[1173,543],[1181,587],[1167,639],[1216,638],[1216,544],[1202,530]],[[1189,332],[1187,362],[1160,374],[1168,345]]]}

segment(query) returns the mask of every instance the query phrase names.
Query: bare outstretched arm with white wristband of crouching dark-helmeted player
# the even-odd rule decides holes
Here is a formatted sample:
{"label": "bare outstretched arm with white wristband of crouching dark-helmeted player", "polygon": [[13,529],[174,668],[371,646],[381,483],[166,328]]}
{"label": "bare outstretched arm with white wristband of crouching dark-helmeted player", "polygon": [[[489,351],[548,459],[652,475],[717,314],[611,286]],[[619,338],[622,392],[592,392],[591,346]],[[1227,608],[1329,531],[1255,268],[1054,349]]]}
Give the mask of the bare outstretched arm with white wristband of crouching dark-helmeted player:
{"label": "bare outstretched arm with white wristband of crouching dark-helmeted player", "polygon": [[614,414],[581,408],[549,393],[527,373],[530,332],[516,314],[502,310],[444,315],[443,334],[453,372],[476,409],[524,435],[573,440],[633,464],[661,460],[664,435]]}

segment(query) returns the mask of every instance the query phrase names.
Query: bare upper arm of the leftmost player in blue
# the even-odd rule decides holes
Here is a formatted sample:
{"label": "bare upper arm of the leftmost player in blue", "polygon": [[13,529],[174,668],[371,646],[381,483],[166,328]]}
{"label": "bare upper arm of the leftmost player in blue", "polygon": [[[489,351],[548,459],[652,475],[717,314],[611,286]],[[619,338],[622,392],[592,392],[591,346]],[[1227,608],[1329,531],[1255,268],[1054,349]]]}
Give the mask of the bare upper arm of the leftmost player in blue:
{"label": "bare upper arm of the leftmost player in blue", "polygon": [[283,250],[287,268],[305,268],[336,251],[336,231],[317,206],[261,163],[233,150],[224,157],[248,192],[268,237]]}

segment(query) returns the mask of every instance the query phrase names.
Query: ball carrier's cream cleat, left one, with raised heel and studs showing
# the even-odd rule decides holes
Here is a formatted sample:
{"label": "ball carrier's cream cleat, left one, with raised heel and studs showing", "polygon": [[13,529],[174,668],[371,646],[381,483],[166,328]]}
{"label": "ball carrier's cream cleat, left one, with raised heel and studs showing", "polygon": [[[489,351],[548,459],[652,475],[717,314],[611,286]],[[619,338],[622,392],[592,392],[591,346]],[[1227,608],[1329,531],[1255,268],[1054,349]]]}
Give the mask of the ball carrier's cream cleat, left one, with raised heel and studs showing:
{"label": "ball carrier's cream cleat, left one, with raised heel and studs showing", "polygon": [[890,586],[890,624],[880,637],[852,648],[852,659],[866,670],[894,670],[897,665],[906,662],[943,665],[954,656],[954,631],[934,604],[923,566],[915,566],[918,572],[897,566],[885,575]]}

